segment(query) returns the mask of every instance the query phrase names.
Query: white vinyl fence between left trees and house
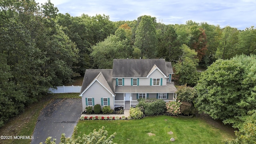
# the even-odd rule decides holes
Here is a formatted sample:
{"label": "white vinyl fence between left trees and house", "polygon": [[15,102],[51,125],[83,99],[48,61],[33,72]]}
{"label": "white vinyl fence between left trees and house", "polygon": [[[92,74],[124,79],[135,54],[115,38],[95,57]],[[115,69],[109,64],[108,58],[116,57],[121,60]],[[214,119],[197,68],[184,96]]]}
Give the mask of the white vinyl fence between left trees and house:
{"label": "white vinyl fence between left trees and house", "polygon": [[49,90],[54,93],[80,93],[82,86],[57,86],[55,88],[49,88]]}

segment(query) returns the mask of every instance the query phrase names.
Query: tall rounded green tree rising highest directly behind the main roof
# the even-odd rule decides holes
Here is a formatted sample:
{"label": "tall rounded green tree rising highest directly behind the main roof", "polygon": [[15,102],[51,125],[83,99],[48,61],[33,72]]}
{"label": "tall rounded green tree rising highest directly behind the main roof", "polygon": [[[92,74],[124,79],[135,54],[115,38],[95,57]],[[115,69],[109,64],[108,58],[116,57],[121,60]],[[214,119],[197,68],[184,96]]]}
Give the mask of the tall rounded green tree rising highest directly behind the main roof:
{"label": "tall rounded green tree rising highest directly behind the main roof", "polygon": [[157,55],[156,26],[153,19],[155,18],[146,15],[138,18],[134,46],[140,48],[142,56],[146,58],[156,58]]}

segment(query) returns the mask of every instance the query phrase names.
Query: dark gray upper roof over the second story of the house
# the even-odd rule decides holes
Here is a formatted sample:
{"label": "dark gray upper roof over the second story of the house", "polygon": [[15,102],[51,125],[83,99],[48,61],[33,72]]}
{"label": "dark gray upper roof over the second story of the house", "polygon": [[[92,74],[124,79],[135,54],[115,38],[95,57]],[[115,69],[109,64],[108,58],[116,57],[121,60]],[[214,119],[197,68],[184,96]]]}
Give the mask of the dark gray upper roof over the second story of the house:
{"label": "dark gray upper roof over the second story of the house", "polygon": [[168,76],[165,59],[114,59],[112,77],[146,77],[154,64]]}

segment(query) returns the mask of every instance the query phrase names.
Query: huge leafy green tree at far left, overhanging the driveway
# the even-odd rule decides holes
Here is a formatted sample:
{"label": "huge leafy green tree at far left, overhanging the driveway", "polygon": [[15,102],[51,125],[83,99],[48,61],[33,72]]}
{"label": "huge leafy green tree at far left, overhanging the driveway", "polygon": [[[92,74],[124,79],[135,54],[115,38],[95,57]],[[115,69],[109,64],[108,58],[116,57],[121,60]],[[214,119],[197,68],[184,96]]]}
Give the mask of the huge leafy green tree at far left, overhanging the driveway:
{"label": "huge leafy green tree at far left, overhanging the driveway", "polygon": [[42,98],[49,87],[75,76],[72,66],[78,50],[56,24],[57,12],[50,1],[41,6],[34,0],[0,3],[0,61],[7,74],[0,90],[1,99],[5,98],[0,111],[6,112],[6,118],[0,123]]}

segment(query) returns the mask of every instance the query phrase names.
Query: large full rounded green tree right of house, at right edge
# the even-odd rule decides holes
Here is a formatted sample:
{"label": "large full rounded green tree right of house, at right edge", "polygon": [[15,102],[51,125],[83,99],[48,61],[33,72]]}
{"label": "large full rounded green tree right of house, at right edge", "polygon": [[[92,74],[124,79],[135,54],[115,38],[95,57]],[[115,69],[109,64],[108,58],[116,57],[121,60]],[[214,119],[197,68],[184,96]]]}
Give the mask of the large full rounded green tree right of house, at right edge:
{"label": "large full rounded green tree right of house, at right edge", "polygon": [[248,112],[256,107],[255,64],[255,55],[216,60],[195,86],[198,110],[241,128]]}

